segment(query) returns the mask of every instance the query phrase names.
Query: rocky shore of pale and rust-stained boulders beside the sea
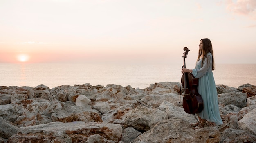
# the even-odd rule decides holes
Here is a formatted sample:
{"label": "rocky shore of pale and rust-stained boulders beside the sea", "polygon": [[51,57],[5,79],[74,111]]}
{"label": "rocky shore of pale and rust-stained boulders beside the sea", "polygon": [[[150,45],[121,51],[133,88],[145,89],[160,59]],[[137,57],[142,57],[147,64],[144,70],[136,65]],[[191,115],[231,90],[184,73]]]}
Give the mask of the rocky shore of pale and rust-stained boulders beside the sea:
{"label": "rocky shore of pale and rust-stained boulders beside the sea", "polygon": [[224,124],[195,130],[178,82],[0,86],[0,143],[256,143],[256,86],[216,87]]}

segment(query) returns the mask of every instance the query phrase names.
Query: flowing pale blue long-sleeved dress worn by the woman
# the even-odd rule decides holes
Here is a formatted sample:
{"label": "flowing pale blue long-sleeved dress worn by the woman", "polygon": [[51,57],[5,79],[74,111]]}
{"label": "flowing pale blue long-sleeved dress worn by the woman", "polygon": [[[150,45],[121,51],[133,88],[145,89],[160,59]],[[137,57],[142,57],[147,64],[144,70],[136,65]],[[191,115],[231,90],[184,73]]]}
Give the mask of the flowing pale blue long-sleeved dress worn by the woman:
{"label": "flowing pale blue long-sleeved dress worn by the woman", "polygon": [[202,59],[196,62],[192,74],[198,78],[198,93],[202,96],[204,108],[198,116],[216,125],[223,124],[220,117],[218,94],[212,72],[212,54],[208,53],[202,65]]}

